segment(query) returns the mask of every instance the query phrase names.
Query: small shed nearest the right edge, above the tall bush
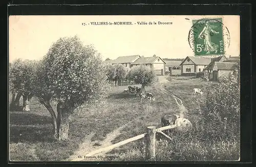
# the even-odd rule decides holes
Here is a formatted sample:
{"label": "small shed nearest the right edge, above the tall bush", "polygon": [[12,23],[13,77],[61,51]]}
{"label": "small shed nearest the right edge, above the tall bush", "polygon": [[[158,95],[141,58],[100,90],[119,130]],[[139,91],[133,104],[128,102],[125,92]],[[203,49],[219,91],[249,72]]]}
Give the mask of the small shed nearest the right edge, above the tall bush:
{"label": "small shed nearest the right edge, above the tall bush", "polygon": [[230,73],[237,68],[238,63],[215,62],[212,66],[212,80],[221,81],[224,77],[229,77]]}

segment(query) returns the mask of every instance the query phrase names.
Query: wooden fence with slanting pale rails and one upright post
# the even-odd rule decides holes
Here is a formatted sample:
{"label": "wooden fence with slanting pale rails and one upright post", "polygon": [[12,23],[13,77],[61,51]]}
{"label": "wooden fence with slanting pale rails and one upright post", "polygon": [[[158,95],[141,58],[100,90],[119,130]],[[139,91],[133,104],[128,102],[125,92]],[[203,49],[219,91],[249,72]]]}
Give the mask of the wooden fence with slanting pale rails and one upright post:
{"label": "wooden fence with slanting pale rails and one upright post", "polygon": [[[162,131],[163,130],[168,130],[168,129],[173,129],[177,126],[178,125],[169,125],[169,126],[161,127],[161,128],[158,128],[158,129],[156,129],[155,126],[149,126],[149,127],[147,127],[147,133],[143,133],[143,134],[140,134],[138,136],[120,141],[120,142],[118,142],[114,145],[95,150],[95,151],[85,155],[84,157],[92,156],[92,155],[102,153],[102,152],[107,152],[107,151],[110,151],[114,148],[125,145],[129,142],[132,142],[132,141],[135,141],[135,140],[138,140],[138,139],[141,139],[141,138],[145,137],[145,145],[146,145],[145,146],[145,149],[146,149],[145,150],[145,158],[146,158],[147,161],[156,161],[156,133],[161,133],[162,135],[164,135],[168,139],[172,139],[168,135],[163,133]],[[83,159],[82,158],[76,158],[76,159],[73,159],[71,161],[81,161],[81,160],[83,160]]]}

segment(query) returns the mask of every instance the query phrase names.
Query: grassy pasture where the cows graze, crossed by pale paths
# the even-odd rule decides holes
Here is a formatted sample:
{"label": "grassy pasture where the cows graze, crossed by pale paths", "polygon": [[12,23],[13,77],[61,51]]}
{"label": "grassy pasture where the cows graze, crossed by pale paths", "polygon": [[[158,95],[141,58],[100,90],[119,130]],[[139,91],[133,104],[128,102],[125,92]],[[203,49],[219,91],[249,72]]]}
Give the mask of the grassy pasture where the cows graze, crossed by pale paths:
{"label": "grassy pasture where the cows graze, crossed by pale paths", "polygon": [[[191,117],[191,122],[193,122],[193,116],[195,116],[193,115],[195,110],[193,101],[195,97],[191,96],[191,91],[195,87],[201,88],[206,83],[191,77],[173,77],[170,82],[166,82],[164,85],[168,91],[182,99],[184,106],[188,109],[187,117]],[[10,159],[15,161],[65,161],[80,148],[79,146],[85,140],[90,140],[91,149],[100,145],[103,146],[106,141],[111,141],[112,144],[115,144],[124,139],[145,133],[147,126],[161,127],[161,116],[164,114],[179,113],[175,100],[160,90],[159,83],[146,87],[146,91],[152,92],[156,97],[156,101],[152,103],[148,101],[140,103],[140,99],[135,95],[122,93],[126,87],[113,87],[112,93],[106,99],[106,102],[76,110],[71,116],[69,140],[65,142],[52,139],[50,114],[34,98],[30,103],[31,111],[11,111]],[[122,128],[120,129],[120,127]],[[85,139],[90,135],[91,138]],[[189,147],[187,143],[183,146],[179,145],[183,148],[182,152],[175,153],[174,151],[177,151],[177,148],[174,147],[177,146],[168,141],[158,142],[160,142],[156,150],[158,160],[184,160],[182,159],[182,154],[186,150],[188,150],[187,153],[189,154],[193,152],[193,147],[206,147],[202,142],[193,147]],[[235,149],[239,150],[236,144],[228,144],[228,147],[231,148],[228,149],[229,151],[231,150],[231,152],[228,152],[229,155],[233,154],[232,149],[234,151],[237,151]],[[143,151],[143,139],[140,139],[116,148],[107,154],[115,155],[117,156],[116,158],[103,160],[144,161]],[[164,153],[162,153],[163,151]],[[88,153],[86,149],[84,153]],[[205,156],[206,154],[202,153],[202,157],[197,158],[197,155],[193,154],[195,159],[193,159],[193,156],[191,159],[207,160],[212,158],[211,156]],[[180,159],[176,156],[168,155],[180,155]]]}

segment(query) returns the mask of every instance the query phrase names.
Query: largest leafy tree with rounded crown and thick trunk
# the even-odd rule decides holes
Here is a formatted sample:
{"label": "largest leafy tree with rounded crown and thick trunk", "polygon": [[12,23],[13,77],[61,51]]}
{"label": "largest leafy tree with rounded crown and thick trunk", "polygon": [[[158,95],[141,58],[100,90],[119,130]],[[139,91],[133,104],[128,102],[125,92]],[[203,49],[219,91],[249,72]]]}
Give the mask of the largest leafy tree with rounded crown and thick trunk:
{"label": "largest leafy tree with rounded crown and thick trunk", "polygon": [[42,68],[47,85],[42,87],[57,103],[58,139],[67,139],[72,112],[105,98],[110,90],[103,62],[92,45],[84,46],[74,36],[58,39],[42,60]]}

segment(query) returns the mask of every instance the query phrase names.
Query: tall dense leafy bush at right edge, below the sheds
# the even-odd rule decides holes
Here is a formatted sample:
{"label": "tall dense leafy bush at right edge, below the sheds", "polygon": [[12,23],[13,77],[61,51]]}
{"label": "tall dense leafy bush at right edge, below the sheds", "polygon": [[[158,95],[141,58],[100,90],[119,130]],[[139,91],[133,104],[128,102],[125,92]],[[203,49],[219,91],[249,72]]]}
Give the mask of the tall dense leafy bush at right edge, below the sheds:
{"label": "tall dense leafy bush at right edge, below the sheds", "polygon": [[[238,71],[218,84],[204,86],[196,101],[198,132],[207,140],[240,140],[240,84]],[[228,132],[228,133],[227,133]]]}

